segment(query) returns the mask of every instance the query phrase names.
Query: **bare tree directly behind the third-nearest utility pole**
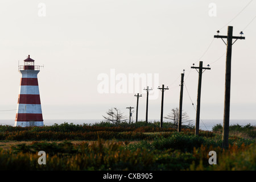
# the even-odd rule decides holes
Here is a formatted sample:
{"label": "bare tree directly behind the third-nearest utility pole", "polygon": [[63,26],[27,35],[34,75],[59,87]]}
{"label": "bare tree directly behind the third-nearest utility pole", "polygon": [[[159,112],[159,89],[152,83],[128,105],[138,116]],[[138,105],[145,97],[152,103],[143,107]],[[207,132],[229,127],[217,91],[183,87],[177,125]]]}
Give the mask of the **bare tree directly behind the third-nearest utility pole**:
{"label": "bare tree directly behind the third-nearest utility pole", "polygon": [[[177,127],[179,125],[179,109],[176,107],[171,110],[171,113],[167,114],[165,119],[171,119],[174,122],[174,126]],[[187,126],[191,124],[191,119],[189,119],[188,114],[183,111],[182,112],[182,117],[181,117],[181,123],[186,123]]]}

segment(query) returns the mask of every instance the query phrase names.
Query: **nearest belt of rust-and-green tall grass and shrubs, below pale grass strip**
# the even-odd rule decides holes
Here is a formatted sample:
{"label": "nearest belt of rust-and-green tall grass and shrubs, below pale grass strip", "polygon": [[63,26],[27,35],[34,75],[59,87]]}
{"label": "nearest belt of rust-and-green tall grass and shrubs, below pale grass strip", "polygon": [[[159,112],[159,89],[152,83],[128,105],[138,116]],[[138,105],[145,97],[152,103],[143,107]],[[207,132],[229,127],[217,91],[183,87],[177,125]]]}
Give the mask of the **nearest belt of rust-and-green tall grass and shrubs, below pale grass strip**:
{"label": "nearest belt of rust-and-green tall grass and shrubs, below pale grass strip", "polygon": [[[191,139],[191,140],[188,140]],[[176,140],[183,145],[176,145]],[[33,142],[0,150],[1,170],[254,170],[256,144],[236,143],[228,150],[208,139],[174,135],[139,143]],[[193,146],[193,147],[192,147]],[[38,151],[45,151],[46,165],[38,164]],[[217,152],[217,165],[208,163],[209,151]]]}

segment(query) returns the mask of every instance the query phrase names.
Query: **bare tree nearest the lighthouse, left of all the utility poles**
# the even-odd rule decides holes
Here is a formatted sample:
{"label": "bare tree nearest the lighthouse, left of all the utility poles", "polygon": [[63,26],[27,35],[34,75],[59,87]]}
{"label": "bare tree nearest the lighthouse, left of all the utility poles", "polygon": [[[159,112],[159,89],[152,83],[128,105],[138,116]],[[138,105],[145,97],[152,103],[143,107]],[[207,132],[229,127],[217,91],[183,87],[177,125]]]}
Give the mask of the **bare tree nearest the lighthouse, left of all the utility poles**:
{"label": "bare tree nearest the lighthouse, left of all the utility poles", "polygon": [[106,116],[102,115],[107,121],[111,121],[113,124],[118,125],[120,122],[126,121],[126,117],[116,107],[106,111]]}

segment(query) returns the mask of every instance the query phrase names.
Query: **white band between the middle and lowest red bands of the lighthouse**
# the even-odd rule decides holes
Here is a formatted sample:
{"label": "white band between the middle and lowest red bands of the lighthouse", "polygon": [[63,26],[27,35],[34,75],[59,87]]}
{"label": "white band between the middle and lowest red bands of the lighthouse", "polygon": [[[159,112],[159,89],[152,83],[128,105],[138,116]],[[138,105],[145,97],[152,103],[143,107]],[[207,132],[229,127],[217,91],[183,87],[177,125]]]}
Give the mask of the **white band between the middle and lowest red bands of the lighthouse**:
{"label": "white band between the middle and lowest red bands of the lighthouse", "polygon": [[17,113],[42,114],[42,107],[40,104],[18,104]]}

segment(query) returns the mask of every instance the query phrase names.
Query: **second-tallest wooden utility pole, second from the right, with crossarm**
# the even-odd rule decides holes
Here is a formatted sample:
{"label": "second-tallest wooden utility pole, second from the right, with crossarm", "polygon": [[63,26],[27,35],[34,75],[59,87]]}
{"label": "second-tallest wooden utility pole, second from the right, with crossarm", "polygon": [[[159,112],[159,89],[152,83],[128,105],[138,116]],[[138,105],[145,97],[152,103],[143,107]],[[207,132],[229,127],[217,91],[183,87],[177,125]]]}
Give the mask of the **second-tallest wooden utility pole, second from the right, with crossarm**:
{"label": "second-tallest wooden utility pole, second from the right, with crossarm", "polygon": [[[195,64],[193,64],[195,65]],[[209,64],[208,64],[209,67]],[[203,69],[210,69],[210,68],[204,68],[203,67],[203,61],[199,62],[199,67],[191,67],[195,68],[196,71],[199,73],[199,78],[198,78],[198,88],[197,88],[197,106],[196,106],[196,130],[195,130],[195,136],[199,135],[199,121],[200,121],[200,102],[201,102],[201,85],[202,85],[202,74],[203,74]]]}

